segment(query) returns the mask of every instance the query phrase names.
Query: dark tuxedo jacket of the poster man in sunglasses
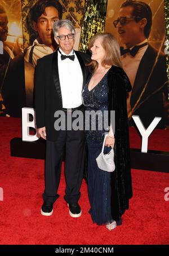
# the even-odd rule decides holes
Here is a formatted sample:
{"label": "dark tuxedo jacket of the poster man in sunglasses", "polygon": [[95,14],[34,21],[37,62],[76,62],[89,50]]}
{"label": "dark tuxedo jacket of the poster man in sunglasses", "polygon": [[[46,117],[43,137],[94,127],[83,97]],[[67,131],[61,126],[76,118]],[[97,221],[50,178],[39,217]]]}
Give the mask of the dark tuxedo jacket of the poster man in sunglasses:
{"label": "dark tuxedo jacket of the poster man in sunglasses", "polygon": [[167,81],[166,56],[159,54],[153,68],[157,54],[157,50],[149,45],[140,61],[130,99],[131,108],[133,108],[148,81],[144,94],[133,113],[140,116],[145,128],[150,125],[154,117],[162,117],[158,128],[163,128],[164,123],[167,122],[163,107],[163,93],[166,99],[168,98],[168,87],[167,84],[164,85]]}

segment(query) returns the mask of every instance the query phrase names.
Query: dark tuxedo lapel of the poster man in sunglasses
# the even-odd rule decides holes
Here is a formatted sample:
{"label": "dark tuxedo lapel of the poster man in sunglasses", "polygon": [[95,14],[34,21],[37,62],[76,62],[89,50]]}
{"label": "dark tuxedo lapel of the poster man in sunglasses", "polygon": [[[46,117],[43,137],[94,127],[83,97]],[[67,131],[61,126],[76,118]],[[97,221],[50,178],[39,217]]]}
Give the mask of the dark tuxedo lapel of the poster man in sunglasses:
{"label": "dark tuxedo lapel of the poster man in sunglasses", "polygon": [[148,81],[149,74],[152,70],[154,63],[154,51],[149,45],[140,61],[139,68],[137,69],[134,86],[131,92],[130,104],[133,107],[139,98],[141,92],[144,89],[146,82]]}

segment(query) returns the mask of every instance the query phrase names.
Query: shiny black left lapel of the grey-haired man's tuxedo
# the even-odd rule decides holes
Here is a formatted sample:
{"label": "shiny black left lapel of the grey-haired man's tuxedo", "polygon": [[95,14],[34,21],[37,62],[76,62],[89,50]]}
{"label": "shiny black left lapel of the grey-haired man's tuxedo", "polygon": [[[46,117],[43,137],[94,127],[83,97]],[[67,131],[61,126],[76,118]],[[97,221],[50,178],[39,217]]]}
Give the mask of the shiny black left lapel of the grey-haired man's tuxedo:
{"label": "shiny black left lapel of the grey-haired man's tuxedo", "polygon": [[61,88],[60,88],[60,81],[59,81],[59,70],[58,70],[58,61],[57,61],[57,51],[54,52],[53,60],[52,60],[52,72],[54,77],[54,84],[56,87],[57,94],[59,95],[61,104],[62,102],[62,96],[61,96]]}

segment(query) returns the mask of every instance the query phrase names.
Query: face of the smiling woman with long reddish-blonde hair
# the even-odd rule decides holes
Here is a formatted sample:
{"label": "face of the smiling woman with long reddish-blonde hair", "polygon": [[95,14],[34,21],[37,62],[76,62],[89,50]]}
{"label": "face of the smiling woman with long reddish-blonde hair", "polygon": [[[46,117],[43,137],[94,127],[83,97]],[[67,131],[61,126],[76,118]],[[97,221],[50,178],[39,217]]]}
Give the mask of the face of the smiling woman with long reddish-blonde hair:
{"label": "face of the smiling woman with long reddish-blonde hair", "polygon": [[97,62],[100,60],[102,61],[105,56],[105,50],[103,46],[101,45],[101,39],[97,38],[94,42],[94,45],[90,48],[90,51],[92,52],[91,59],[96,60]]}

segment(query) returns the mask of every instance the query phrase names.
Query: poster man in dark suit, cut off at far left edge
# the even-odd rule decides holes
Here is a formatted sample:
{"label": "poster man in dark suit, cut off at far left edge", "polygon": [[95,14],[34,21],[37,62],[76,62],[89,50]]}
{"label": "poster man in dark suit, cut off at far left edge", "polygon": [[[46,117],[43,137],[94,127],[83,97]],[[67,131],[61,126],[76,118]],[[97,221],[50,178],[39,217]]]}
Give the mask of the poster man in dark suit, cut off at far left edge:
{"label": "poster man in dark suit, cut off at far left edge", "polygon": [[[1,46],[3,46],[0,55],[0,114],[18,116],[21,106],[23,106],[24,104],[24,100],[23,98],[21,98],[24,90],[22,86],[24,83],[24,79],[21,78],[24,77],[21,77],[22,67],[20,67],[19,65],[19,69],[17,68],[17,64],[20,63],[19,59],[21,55],[21,50],[17,41],[16,43],[10,43],[6,41],[7,34],[8,17],[5,8],[0,5],[0,41],[2,42]],[[18,76],[19,70],[20,76]],[[22,81],[23,83],[21,84],[20,81]],[[19,86],[20,84],[21,87]]]}

